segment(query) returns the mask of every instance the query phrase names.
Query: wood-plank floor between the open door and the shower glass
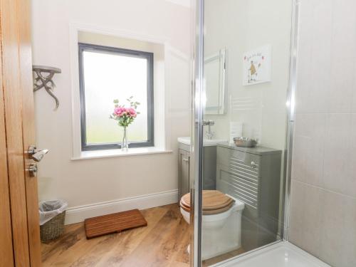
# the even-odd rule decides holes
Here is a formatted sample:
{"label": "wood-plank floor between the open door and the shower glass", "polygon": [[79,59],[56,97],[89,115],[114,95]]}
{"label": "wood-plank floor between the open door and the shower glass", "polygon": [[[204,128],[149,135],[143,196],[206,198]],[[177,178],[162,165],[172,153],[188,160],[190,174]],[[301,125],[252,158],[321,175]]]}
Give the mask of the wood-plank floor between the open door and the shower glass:
{"label": "wood-plank floor between the open door and the shower glass", "polygon": [[146,209],[148,226],[87,240],[83,223],[42,244],[42,266],[188,267],[189,225],[177,204]]}

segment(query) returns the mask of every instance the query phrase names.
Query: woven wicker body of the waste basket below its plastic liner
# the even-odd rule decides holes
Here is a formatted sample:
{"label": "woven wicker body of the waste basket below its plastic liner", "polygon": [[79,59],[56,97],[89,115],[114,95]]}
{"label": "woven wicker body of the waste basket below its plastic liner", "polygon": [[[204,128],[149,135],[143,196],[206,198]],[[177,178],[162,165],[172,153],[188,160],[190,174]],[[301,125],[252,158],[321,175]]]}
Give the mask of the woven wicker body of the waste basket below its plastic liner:
{"label": "woven wicker body of the waste basket below its plastic liner", "polygon": [[56,215],[51,220],[40,226],[41,241],[48,241],[56,239],[61,236],[64,231],[64,219],[66,218],[66,211]]}

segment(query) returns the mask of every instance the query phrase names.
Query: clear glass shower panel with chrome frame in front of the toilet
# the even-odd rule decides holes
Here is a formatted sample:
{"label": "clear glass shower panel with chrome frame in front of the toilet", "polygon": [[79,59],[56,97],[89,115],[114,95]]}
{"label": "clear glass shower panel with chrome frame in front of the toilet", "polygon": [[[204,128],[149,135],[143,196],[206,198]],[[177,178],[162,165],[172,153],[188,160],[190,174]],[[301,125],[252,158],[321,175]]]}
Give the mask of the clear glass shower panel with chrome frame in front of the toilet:
{"label": "clear glass shower panel with chrome frame in front of the toilet", "polygon": [[194,266],[286,239],[294,4],[196,2]]}

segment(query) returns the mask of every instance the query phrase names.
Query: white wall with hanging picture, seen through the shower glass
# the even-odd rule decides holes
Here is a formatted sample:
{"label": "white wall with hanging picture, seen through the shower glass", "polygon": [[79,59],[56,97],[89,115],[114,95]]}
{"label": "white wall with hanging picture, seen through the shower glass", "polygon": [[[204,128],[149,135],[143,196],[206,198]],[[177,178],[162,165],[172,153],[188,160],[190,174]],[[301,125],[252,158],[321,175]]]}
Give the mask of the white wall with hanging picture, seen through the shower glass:
{"label": "white wall with hanging picture, seen through the shower glass", "polygon": [[[246,137],[257,137],[261,145],[284,150],[286,99],[289,77],[291,2],[286,0],[206,0],[204,53],[209,56],[226,48],[226,115],[206,116],[216,121],[215,137],[229,140],[230,122],[243,122]],[[243,55],[272,46],[271,82],[244,86]],[[236,103],[249,98],[250,110]]]}

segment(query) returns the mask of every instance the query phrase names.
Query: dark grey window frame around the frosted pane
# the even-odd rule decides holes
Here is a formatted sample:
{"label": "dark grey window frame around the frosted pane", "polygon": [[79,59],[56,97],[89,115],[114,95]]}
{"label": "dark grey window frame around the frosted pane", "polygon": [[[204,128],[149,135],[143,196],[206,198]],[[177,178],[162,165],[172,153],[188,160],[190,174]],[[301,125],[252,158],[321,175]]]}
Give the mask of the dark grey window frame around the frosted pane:
{"label": "dark grey window frame around the frosted pane", "polygon": [[100,144],[88,144],[86,140],[86,115],[85,115],[85,84],[84,84],[84,65],[83,52],[94,51],[97,53],[107,53],[115,55],[145,58],[147,60],[147,141],[130,142],[129,147],[154,147],[154,54],[145,51],[136,51],[125,48],[111,46],[99,46],[91,43],[78,42],[79,53],[79,88],[80,88],[80,135],[82,151],[90,150],[115,150],[120,149],[118,143],[108,142]]}

